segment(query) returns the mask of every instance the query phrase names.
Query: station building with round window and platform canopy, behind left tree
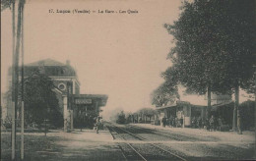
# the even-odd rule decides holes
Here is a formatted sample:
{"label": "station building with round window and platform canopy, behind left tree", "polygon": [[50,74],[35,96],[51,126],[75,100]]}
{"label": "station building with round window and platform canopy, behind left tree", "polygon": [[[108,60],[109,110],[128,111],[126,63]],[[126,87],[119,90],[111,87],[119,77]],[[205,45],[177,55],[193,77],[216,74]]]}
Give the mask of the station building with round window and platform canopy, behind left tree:
{"label": "station building with round window and platform canopy, behind left tree", "polygon": [[[73,130],[73,120],[79,113],[81,114],[80,109],[95,110],[96,114],[99,115],[100,107],[106,104],[107,95],[80,94],[80,82],[76,71],[70,66],[70,61],[63,64],[51,59],[41,60],[25,65],[24,71],[25,78],[37,71],[53,80],[54,91],[59,100],[60,111],[63,114],[65,132]],[[11,68],[8,72],[8,82],[10,88],[12,85]],[[7,117],[10,117],[12,102],[11,100],[7,100],[7,102]],[[84,112],[83,115],[88,114]]]}

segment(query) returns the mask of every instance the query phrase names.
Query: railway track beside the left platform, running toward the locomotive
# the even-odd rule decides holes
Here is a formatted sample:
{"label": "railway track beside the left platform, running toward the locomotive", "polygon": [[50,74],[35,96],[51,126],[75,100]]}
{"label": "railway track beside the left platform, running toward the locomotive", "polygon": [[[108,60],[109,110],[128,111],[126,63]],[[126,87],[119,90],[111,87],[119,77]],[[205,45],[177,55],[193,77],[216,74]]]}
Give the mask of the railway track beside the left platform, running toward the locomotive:
{"label": "railway track beside the left platform, running toward the locomotive", "polygon": [[[123,140],[140,140],[135,143],[134,141],[119,142],[118,145],[126,160],[181,160],[186,161],[185,158],[178,156],[177,154],[160,147],[159,144],[148,142],[149,140],[138,135],[131,133],[127,130],[121,129],[111,123],[107,123],[106,126],[112,134],[114,139]],[[131,137],[132,136],[132,137]]]}

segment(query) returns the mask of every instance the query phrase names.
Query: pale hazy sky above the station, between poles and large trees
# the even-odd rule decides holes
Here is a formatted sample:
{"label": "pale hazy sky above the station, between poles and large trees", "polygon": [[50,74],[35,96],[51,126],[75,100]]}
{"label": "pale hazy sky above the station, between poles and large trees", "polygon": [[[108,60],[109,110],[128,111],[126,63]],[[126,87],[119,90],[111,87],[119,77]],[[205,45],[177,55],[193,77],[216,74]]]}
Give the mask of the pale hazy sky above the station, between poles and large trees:
{"label": "pale hazy sky above the station, between poles and large trees", "polygon": [[[25,64],[42,59],[70,60],[81,82],[81,93],[107,94],[103,110],[136,111],[151,107],[150,94],[163,81],[160,73],[172,37],[163,27],[179,15],[179,0],[27,1]],[[53,9],[55,12],[49,13]],[[95,14],[57,14],[56,10],[94,10]],[[98,14],[113,10],[115,14]],[[138,11],[118,14],[119,10]],[[2,91],[12,64],[11,11],[1,15]]]}

